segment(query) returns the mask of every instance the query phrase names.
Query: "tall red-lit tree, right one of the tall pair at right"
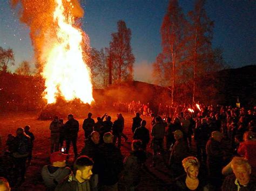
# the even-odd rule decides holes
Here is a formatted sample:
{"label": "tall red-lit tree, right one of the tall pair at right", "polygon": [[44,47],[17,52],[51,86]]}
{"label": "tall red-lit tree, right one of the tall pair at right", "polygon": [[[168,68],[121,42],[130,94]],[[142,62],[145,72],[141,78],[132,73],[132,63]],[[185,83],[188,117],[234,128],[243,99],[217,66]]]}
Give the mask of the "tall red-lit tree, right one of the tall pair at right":
{"label": "tall red-lit tree, right one of the tall pair at right", "polygon": [[[197,91],[197,79],[202,75],[206,75],[211,67],[210,59],[212,55],[212,36],[213,21],[208,18],[204,9],[205,0],[197,0],[194,4],[194,10],[188,12],[190,20],[189,28],[189,44],[188,44],[188,60],[193,67],[193,92],[192,102],[194,103]],[[211,64],[214,64],[211,62]],[[208,70],[208,71],[207,71]]]}

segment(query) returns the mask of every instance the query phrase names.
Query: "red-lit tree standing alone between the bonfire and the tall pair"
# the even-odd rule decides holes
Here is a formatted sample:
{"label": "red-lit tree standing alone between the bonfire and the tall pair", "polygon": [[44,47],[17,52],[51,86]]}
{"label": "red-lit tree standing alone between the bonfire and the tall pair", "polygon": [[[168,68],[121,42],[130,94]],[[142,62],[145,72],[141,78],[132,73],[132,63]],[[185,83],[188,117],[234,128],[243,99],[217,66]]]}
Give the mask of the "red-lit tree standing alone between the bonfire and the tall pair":
{"label": "red-lit tree standing alone between the bonfire and the tall pair", "polygon": [[113,80],[126,81],[133,79],[133,63],[135,61],[131,48],[131,30],[123,20],[117,22],[118,32],[112,33],[110,42]]}

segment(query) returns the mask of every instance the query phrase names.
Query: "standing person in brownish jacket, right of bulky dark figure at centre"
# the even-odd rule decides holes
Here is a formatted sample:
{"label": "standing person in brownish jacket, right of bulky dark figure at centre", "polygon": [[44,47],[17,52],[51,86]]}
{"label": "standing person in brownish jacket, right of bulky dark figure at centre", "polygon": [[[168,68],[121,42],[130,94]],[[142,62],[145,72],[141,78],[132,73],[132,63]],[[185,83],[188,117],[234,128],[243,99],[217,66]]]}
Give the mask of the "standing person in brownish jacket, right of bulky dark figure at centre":
{"label": "standing person in brownish jacket, right of bulky dark figure at centre", "polygon": [[153,144],[153,162],[152,167],[156,167],[156,157],[157,152],[160,150],[161,156],[163,158],[163,162],[165,165],[165,156],[164,156],[164,148],[163,148],[163,141],[165,136],[165,125],[161,120],[161,117],[157,116],[155,118],[156,124],[152,126],[151,136],[152,144]]}

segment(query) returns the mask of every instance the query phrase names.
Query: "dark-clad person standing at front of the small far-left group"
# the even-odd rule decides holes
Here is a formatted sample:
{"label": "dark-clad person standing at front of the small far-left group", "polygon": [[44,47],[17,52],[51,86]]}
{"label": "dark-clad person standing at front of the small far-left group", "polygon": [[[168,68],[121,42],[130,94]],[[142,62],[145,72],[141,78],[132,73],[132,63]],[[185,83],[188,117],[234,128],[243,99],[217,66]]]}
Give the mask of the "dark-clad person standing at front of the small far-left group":
{"label": "dark-clad person standing at front of the small far-left group", "polygon": [[18,171],[18,185],[25,180],[26,173],[26,159],[31,151],[30,137],[27,136],[23,128],[18,128],[17,136],[14,139],[15,151],[13,153],[15,158],[15,168]]}

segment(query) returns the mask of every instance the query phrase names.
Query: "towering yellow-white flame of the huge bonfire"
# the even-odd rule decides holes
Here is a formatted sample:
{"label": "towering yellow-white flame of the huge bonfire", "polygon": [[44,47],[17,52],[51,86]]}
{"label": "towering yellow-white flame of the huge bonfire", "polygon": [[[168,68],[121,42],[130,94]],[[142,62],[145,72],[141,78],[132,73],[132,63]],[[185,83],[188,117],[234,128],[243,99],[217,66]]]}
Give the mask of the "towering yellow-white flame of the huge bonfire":
{"label": "towering yellow-white flame of the huge bonfire", "polygon": [[65,13],[62,0],[55,0],[53,19],[58,23],[57,40],[46,51],[46,63],[42,75],[45,78],[45,98],[55,103],[61,95],[66,101],[79,98],[83,103],[91,103],[92,84],[89,68],[85,65],[82,51],[82,31],[76,29],[74,18]]}

